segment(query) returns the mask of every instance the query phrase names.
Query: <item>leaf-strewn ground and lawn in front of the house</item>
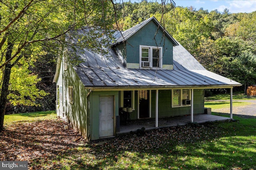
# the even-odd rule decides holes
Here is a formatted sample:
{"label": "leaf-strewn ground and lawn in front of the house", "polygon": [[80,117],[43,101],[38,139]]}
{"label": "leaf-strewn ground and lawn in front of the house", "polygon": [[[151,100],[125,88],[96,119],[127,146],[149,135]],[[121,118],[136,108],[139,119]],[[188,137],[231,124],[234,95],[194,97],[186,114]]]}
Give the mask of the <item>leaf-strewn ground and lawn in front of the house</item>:
{"label": "leaf-strewn ground and lawn in front of the house", "polygon": [[250,131],[238,122],[189,124],[92,143],[64,125],[52,119],[6,126],[0,160],[27,160],[30,170],[256,168],[256,127],[250,123]]}

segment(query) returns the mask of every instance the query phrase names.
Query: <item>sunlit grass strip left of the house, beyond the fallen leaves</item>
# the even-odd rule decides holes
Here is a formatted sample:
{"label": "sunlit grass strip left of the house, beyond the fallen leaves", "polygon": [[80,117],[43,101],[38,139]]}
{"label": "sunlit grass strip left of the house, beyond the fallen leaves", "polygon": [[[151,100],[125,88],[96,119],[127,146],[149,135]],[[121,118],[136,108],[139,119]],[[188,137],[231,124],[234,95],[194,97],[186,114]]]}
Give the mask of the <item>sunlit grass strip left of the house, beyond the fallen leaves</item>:
{"label": "sunlit grass strip left of the house, beyond the fallen leaves", "polygon": [[18,114],[4,115],[4,125],[16,123],[16,122],[54,119],[55,117],[56,117],[55,111],[39,111],[39,112],[31,112],[31,113],[18,113]]}

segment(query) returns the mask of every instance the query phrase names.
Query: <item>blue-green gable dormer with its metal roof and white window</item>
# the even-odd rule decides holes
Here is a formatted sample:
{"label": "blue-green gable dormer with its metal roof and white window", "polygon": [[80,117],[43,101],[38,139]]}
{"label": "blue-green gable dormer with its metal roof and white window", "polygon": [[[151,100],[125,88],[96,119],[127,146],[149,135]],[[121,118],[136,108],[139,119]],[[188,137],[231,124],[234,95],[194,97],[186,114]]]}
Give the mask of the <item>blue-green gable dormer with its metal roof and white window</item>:
{"label": "blue-green gable dormer with its metal roof and white window", "polygon": [[127,68],[173,69],[175,39],[151,17],[116,36],[114,47]]}

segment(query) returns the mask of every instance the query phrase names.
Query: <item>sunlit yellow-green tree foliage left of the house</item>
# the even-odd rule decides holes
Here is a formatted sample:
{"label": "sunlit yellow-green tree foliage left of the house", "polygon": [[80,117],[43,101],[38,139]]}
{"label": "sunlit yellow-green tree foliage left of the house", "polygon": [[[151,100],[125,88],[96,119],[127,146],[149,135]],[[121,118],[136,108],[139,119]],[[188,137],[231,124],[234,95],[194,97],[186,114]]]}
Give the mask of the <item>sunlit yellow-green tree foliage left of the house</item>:
{"label": "sunlit yellow-green tree foliage left of the house", "polygon": [[[53,60],[61,46],[73,46],[74,43],[102,52],[100,49],[106,44],[106,39],[96,41],[102,36],[101,32],[82,37],[86,41],[80,44],[72,41],[65,43],[63,39],[64,35],[69,36],[73,30],[84,26],[105,30],[104,34],[108,36],[107,32],[115,22],[113,7],[111,1],[94,0],[0,1],[0,88],[10,84],[9,91],[4,90],[0,95],[7,96],[6,93],[10,92],[7,98],[13,106],[42,105],[38,100],[48,93],[42,87],[39,90],[41,79],[37,78],[38,72],[31,72],[35,70],[34,63],[47,55],[51,55]],[[4,77],[5,69],[11,69],[10,82],[5,78],[7,74]],[[1,115],[4,98],[1,98]],[[49,97],[46,98],[52,102]]]}

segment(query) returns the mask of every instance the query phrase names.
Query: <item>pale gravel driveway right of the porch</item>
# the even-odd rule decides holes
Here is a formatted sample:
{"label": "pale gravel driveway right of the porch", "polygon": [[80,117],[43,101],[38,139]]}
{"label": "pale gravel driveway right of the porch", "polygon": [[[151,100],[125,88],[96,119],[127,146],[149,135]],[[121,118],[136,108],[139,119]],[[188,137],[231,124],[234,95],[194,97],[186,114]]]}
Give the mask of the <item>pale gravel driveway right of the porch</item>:
{"label": "pale gravel driveway right of the porch", "polygon": [[[215,100],[216,101],[216,100]],[[249,102],[249,105],[246,106],[239,106],[239,107],[234,107],[233,106],[233,114],[236,115],[244,115],[245,116],[255,116],[256,118],[256,100],[233,100],[233,102]],[[223,108],[223,109],[212,109],[214,112],[219,112],[219,113],[230,113],[230,108]]]}

